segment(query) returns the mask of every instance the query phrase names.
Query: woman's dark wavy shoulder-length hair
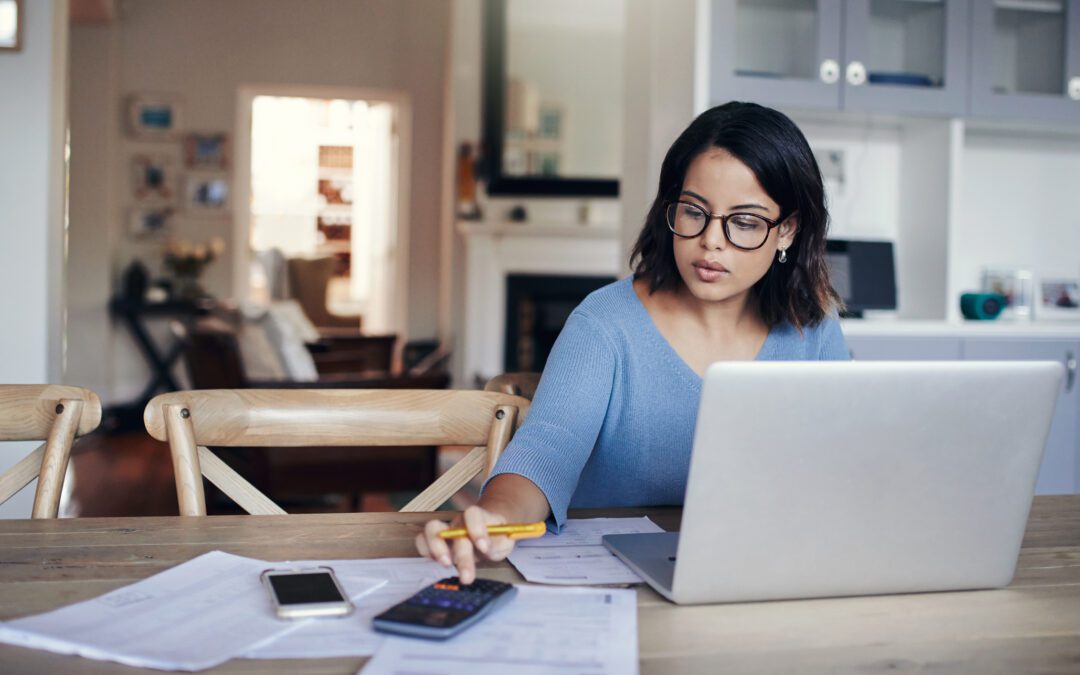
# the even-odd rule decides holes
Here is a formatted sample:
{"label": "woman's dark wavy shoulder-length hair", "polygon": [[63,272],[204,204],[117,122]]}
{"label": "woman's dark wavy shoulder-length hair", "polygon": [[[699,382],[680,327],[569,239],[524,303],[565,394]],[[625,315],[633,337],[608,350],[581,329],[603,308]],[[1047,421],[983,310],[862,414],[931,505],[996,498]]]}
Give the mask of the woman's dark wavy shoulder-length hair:
{"label": "woman's dark wavy shoulder-length hair", "polygon": [[787,116],[757,104],[732,102],[702,112],[667,150],[660,186],[637,237],[630,265],[649,293],[683,284],[675,266],[674,234],[664,208],[683,193],[690,163],[710,148],[723,148],[745,164],[774,202],[780,219],[798,214],[798,231],[787,262],[773,262],[754,285],[766,325],[789,321],[813,325],[841,307],[825,265],[828,211],[821,171],[802,132]]}

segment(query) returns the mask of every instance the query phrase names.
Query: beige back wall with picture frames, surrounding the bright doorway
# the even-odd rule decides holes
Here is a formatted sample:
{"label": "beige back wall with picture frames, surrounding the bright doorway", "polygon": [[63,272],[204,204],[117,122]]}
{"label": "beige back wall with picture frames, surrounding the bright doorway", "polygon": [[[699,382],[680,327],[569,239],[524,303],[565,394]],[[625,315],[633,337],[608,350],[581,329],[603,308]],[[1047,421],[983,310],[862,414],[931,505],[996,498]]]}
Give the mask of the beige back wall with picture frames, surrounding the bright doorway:
{"label": "beige back wall with picture frames, surrounding the bright doorway", "polygon": [[[85,262],[72,287],[87,280],[80,324],[72,333],[85,328],[91,337],[72,351],[72,363],[103,359],[97,345],[109,293],[103,294],[100,281],[108,278],[116,288],[121,271],[135,258],[160,271],[161,244],[139,243],[125,233],[131,159],[139,151],[179,158],[179,145],[127,138],[122,102],[136,93],[176,94],[187,129],[233,134],[237,92],[245,84],[407,94],[413,109],[411,185],[405,204],[411,226],[403,237],[409,243],[403,261],[409,278],[407,330],[414,338],[434,336],[448,17],[449,5],[442,0],[126,0],[111,26],[77,27],[72,62],[94,84],[77,86],[71,106],[73,132],[84,130],[81,138],[72,137],[72,158],[79,158],[72,192],[81,191],[89,206],[72,212],[71,227],[78,231],[72,244],[79,246],[72,256]],[[180,214],[174,232],[193,240],[224,237],[230,253],[244,245],[233,241],[228,218]],[[103,242],[111,242],[108,256],[102,255]],[[231,259],[227,254],[206,270],[203,281],[211,293],[232,293]],[[113,334],[109,380],[100,381],[97,365],[81,376],[102,388],[106,401],[121,402],[138,393],[148,370],[127,336]]]}

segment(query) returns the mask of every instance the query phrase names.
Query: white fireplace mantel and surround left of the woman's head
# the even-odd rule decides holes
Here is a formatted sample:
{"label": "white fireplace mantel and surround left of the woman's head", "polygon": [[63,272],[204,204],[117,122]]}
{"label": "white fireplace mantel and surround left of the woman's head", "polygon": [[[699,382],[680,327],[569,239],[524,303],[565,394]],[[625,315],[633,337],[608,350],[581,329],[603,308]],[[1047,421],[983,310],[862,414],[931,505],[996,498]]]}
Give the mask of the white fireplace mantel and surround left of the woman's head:
{"label": "white fireplace mantel and surround left of the woman's head", "polygon": [[464,386],[502,372],[508,274],[622,276],[617,225],[460,221],[465,242]]}

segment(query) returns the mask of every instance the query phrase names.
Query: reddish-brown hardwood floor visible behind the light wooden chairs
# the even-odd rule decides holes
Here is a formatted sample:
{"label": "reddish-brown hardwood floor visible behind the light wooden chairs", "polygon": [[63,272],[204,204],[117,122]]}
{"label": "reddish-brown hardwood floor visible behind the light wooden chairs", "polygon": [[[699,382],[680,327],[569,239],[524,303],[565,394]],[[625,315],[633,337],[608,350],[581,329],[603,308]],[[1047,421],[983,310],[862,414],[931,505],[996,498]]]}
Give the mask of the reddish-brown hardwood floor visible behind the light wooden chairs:
{"label": "reddish-brown hardwood floor visible behind the light wooden chairs", "polygon": [[[438,472],[448,469],[464,455],[457,447],[440,448]],[[72,450],[73,487],[62,504],[62,516],[176,515],[176,486],[168,445],[151,438],[145,431],[97,432],[80,438]],[[446,508],[463,509],[475,503],[478,481],[459,492]],[[352,496],[327,495],[321,499],[283,504],[289,513],[396,511],[415,492],[367,492],[357,504]],[[207,499],[213,498],[207,494]],[[213,510],[207,502],[208,509]],[[231,511],[227,501],[217,503],[217,512]]]}

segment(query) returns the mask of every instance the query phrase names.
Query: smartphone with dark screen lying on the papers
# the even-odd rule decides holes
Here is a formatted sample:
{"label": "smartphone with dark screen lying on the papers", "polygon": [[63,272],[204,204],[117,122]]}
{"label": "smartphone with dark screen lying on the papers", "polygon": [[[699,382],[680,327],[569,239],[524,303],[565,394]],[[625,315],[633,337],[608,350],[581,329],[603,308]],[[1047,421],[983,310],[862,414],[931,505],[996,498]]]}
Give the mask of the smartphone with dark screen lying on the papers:
{"label": "smartphone with dark screen lying on the papers", "polygon": [[352,603],[329,567],[267,569],[260,577],[282,619],[343,617],[352,612]]}

